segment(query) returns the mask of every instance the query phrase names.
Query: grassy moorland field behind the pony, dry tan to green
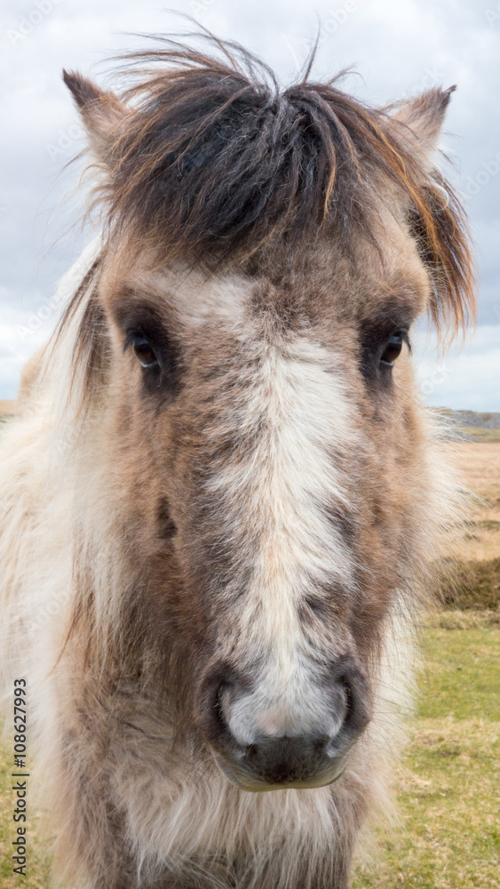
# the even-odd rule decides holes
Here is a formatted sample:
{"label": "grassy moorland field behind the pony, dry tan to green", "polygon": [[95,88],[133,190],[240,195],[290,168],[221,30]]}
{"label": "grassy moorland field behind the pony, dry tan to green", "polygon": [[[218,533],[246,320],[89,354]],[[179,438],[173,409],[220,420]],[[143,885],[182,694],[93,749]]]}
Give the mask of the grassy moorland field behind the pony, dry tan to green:
{"label": "grassy moorland field behind the pony, dry tan to green", "polygon": [[[459,597],[450,594],[448,610],[424,631],[417,717],[397,776],[401,824],[379,837],[379,853],[358,866],[353,889],[500,887],[500,442],[444,446],[481,501],[461,540]],[[12,877],[11,763],[4,746],[1,889],[47,889],[36,813],[28,877]]]}

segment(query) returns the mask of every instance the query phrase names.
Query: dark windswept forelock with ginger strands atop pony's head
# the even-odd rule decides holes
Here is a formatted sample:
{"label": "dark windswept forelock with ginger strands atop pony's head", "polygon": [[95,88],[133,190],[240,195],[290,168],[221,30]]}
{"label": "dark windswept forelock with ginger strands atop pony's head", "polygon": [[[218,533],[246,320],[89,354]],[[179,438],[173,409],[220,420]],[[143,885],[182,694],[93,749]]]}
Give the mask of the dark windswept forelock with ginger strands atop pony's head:
{"label": "dark windswept forelock with ginger strands atop pony's head", "polygon": [[[313,55],[302,79],[281,90],[242,46],[201,36],[211,53],[163,38],[120,57],[132,78],[121,93],[126,114],[93,193],[107,243],[209,271],[278,241],[292,249],[327,227],[347,250],[353,228],[377,244],[374,210],[389,183],[431,274],[433,323],[452,334],[464,327],[474,315],[464,211],[442,173],[425,168],[409,127],[339,90],[344,72],[310,82]],[[87,82],[64,77],[90,105]],[[439,94],[444,108],[450,92],[421,102],[435,105]]]}

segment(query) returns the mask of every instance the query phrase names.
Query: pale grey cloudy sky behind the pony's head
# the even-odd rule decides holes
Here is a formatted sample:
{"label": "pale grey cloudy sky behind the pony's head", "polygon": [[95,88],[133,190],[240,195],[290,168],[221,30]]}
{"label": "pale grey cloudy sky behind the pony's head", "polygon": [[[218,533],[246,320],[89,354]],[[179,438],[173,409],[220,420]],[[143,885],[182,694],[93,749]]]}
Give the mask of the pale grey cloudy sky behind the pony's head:
{"label": "pale grey cloudy sky behind the pony's head", "polygon": [[472,221],[480,267],[479,325],[460,352],[437,356],[421,333],[420,388],[429,404],[500,411],[500,0],[2,0],[0,71],[0,398],[57,319],[59,276],[88,231],[77,168],[81,131],[61,68],[106,83],[102,60],[131,34],[179,30],[175,12],[246,44],[283,83],[320,28],[315,75],[355,65],[346,88],[383,104],[457,84],[443,147]]}

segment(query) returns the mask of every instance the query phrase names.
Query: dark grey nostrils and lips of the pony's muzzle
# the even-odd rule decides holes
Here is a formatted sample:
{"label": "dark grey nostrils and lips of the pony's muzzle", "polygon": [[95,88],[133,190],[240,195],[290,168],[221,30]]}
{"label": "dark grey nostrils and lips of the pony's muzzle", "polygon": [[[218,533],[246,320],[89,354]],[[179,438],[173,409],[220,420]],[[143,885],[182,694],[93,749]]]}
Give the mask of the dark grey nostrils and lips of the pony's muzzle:
{"label": "dark grey nostrils and lips of the pony's muzzle", "polygon": [[[258,711],[251,707],[249,683],[240,681],[234,670],[218,669],[205,678],[197,721],[229,781],[240,789],[262,792],[318,788],[341,777],[350,750],[369,723],[371,696],[361,671],[349,668],[345,661],[329,675],[321,696],[324,712],[317,714],[315,725],[305,729],[296,717],[296,725],[289,719],[282,726],[274,725],[272,733],[262,731]],[[242,705],[242,701],[248,702],[244,704],[246,737],[234,719],[234,704]],[[277,711],[283,709],[278,706]]]}

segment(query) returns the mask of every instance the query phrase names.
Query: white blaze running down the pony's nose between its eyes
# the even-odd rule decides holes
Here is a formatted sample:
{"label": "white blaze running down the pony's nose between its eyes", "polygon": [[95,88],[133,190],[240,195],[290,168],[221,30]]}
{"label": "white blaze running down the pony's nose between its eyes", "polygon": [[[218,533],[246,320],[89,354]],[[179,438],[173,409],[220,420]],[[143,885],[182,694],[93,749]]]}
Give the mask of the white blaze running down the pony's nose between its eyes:
{"label": "white blaze running down the pony's nose between its eyes", "polygon": [[355,447],[335,356],[305,339],[286,351],[267,342],[259,349],[245,423],[250,433],[264,419],[265,430],[249,459],[228,466],[214,482],[240,513],[243,507],[249,533],[257,531],[259,539],[237,621],[249,664],[260,659],[262,666],[254,690],[229,713],[230,730],[242,744],[258,733],[300,734],[314,727],[337,733],[298,607],[306,594],[321,597],[326,585],[352,576],[345,541],[321,509],[346,503],[336,452]]}

